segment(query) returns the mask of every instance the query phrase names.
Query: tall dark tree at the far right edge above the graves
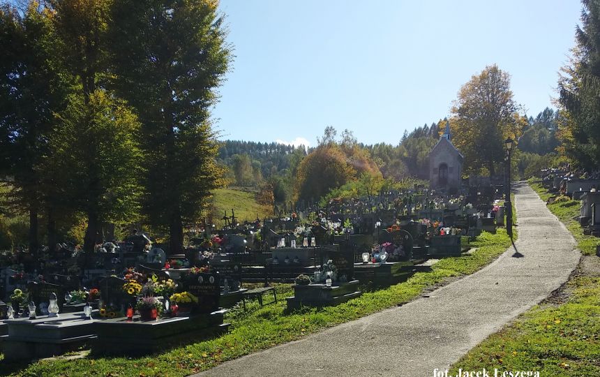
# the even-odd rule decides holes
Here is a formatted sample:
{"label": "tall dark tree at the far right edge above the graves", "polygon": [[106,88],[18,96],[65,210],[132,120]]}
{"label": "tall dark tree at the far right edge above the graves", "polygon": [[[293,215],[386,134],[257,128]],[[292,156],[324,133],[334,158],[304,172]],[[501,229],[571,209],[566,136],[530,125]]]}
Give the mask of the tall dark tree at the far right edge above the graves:
{"label": "tall dark tree at the far right edge above the graves", "polygon": [[562,68],[560,139],[574,165],[600,165],[600,1],[582,0],[581,27],[570,64]]}

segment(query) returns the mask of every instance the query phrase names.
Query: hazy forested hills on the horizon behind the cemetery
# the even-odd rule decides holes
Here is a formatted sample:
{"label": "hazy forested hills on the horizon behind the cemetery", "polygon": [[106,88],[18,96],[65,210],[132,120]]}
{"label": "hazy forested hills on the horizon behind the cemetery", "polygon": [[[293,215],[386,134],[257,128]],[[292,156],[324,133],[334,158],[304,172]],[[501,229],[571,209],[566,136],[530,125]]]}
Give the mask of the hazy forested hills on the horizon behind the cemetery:
{"label": "hazy forested hills on the horizon behind the cemetery", "polygon": [[[336,141],[336,130],[331,127],[326,128],[317,147],[308,149],[276,142],[226,140],[220,146],[218,162],[227,167],[226,177],[231,186],[268,193],[263,195],[265,204],[294,200],[294,181],[300,163],[308,154],[328,142],[340,146],[352,145],[354,151],[360,150],[361,156],[372,161],[384,179],[393,182],[406,178],[428,179],[429,152],[444,132],[446,121],[440,119],[430,125],[414,128],[411,132],[405,131],[397,145],[385,142],[366,145],[358,142],[352,131],[347,130]],[[558,112],[550,108],[544,109],[537,117],[527,118],[515,154],[518,175],[531,175],[555,158],[555,149],[559,146],[558,123]],[[347,158],[351,160],[355,153],[347,154]],[[265,196],[268,198],[265,199]]]}

